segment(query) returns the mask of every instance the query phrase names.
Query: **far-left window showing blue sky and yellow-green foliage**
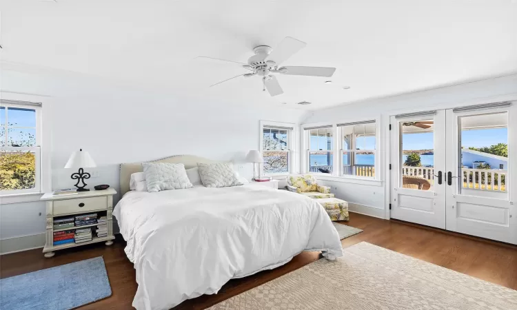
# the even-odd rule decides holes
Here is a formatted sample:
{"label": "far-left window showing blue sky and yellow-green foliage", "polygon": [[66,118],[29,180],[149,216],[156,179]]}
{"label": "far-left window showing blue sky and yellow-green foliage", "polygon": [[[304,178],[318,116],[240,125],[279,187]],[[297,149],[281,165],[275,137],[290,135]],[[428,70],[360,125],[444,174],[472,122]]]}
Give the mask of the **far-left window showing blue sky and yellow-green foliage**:
{"label": "far-left window showing blue sky and yellow-green foliage", "polygon": [[0,101],[0,195],[41,192],[41,103]]}

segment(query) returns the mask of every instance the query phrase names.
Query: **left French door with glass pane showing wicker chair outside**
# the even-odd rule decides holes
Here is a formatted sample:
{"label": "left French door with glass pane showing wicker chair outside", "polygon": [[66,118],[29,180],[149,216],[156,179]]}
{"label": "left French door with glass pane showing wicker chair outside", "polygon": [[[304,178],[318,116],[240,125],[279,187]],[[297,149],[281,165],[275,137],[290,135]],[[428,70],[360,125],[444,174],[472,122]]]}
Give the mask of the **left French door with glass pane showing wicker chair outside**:
{"label": "left French door with glass pane showing wicker chair outside", "polygon": [[391,217],[445,229],[445,111],[392,116]]}

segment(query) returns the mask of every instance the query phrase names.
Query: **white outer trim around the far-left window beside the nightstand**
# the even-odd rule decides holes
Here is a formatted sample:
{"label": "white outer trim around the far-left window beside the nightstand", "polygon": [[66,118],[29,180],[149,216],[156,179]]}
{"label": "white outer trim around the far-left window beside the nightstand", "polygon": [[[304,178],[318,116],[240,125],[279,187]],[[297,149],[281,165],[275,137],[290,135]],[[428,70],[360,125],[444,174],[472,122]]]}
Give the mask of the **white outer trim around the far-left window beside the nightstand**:
{"label": "white outer trim around the far-left window beside the nightstand", "polygon": [[[45,192],[50,192],[52,188],[52,176],[50,166],[50,149],[52,135],[50,130],[51,114],[50,114],[50,97],[37,96],[32,94],[19,94],[14,92],[0,92],[0,98],[12,101],[28,101],[41,103],[41,107],[37,107],[36,112],[36,127],[37,127],[37,141],[38,147],[26,147],[26,149],[39,149],[37,154],[37,163],[39,161],[39,176],[37,173],[37,183],[39,183],[39,191],[32,190],[16,190],[8,194],[0,194],[1,203],[25,203],[30,201],[39,201],[41,195]],[[15,106],[16,104],[9,104]],[[20,107],[25,107],[21,106]],[[4,192],[5,193],[5,192]]]}

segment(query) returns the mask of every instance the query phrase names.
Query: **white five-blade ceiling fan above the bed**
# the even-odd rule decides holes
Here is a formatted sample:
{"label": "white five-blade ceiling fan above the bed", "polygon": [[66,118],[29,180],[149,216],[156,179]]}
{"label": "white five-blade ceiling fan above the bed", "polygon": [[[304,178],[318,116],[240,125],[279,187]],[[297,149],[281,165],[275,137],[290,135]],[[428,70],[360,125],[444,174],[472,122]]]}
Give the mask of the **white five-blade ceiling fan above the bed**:
{"label": "white five-blade ceiling fan above the bed", "polygon": [[276,80],[274,74],[285,74],[285,75],[305,75],[305,76],[325,76],[330,77],[336,71],[336,68],[327,67],[299,67],[299,66],[280,66],[281,63],[289,59],[292,55],[296,54],[302,48],[305,48],[307,43],[296,40],[292,37],[285,37],[280,45],[275,49],[267,45],[260,45],[253,49],[255,53],[247,63],[239,63],[238,61],[228,61],[225,59],[216,59],[207,56],[198,56],[196,59],[208,59],[212,61],[224,61],[226,63],[234,63],[241,65],[246,72],[233,76],[230,79],[225,79],[219,83],[210,85],[210,87],[219,85],[231,79],[236,79],[239,76],[251,77],[251,76],[262,76],[263,91],[267,90],[271,96],[283,94],[282,87]]}

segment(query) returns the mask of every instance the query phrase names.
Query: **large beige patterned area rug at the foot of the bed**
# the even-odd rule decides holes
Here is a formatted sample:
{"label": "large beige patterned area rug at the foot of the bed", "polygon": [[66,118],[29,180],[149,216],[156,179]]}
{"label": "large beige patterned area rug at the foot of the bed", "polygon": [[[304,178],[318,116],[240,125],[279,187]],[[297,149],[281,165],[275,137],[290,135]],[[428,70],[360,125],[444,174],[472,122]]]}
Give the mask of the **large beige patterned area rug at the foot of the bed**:
{"label": "large beige patterned area rug at the foot of the bed", "polygon": [[517,291],[361,242],[210,309],[517,309]]}

